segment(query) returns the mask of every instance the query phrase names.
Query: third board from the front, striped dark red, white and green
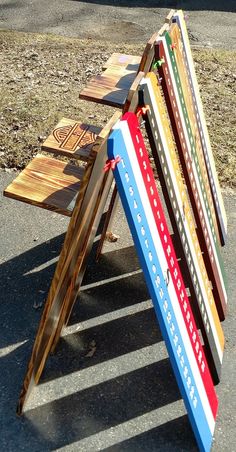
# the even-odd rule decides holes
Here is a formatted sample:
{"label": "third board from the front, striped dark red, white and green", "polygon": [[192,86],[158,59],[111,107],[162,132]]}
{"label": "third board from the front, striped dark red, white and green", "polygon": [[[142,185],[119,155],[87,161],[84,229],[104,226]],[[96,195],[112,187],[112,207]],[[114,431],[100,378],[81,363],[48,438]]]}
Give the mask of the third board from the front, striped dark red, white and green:
{"label": "third board from the front, striped dark red, white and green", "polygon": [[[200,246],[204,253],[205,265],[212,283],[219,317],[223,320],[227,306],[224,265],[207,202],[204,183],[199,172],[194,140],[191,139],[191,128],[175,62],[174,49],[171,49],[170,46],[171,40],[168,33],[158,38],[156,56],[158,61],[162,61],[159,73],[162,77],[162,88],[195,215]],[[170,54],[169,51],[172,53]]]}

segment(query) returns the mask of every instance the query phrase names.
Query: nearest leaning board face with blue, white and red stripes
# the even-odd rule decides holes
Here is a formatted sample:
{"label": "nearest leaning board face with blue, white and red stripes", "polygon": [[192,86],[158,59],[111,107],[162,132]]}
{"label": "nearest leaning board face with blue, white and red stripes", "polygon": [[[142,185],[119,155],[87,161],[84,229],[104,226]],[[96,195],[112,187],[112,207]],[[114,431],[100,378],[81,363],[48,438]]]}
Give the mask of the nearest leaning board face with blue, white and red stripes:
{"label": "nearest leaning board face with blue, white and red stripes", "polygon": [[217,397],[134,114],[111,133],[108,157],[198,446],[210,451]]}

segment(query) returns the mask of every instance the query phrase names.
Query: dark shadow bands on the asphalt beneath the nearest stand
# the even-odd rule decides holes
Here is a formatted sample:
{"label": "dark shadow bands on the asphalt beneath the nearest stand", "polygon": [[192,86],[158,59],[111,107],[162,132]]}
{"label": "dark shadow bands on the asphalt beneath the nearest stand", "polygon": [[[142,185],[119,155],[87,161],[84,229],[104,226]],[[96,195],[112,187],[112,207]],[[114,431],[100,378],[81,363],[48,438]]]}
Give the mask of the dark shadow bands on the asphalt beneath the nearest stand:
{"label": "dark shadow bands on the asphalt beneath the nearest stand", "polygon": [[[12,335],[1,331],[6,346],[1,358],[0,419],[3,447],[5,445],[6,450],[21,450],[27,444],[33,452],[56,450],[67,445],[71,445],[72,449],[75,447],[74,450],[102,450],[110,444],[111,429],[122,430],[125,423],[129,431],[128,439],[122,441],[124,438],[121,436],[113,446],[114,450],[167,450],[165,447],[168,445],[171,450],[180,451],[185,450],[186,444],[186,450],[197,450],[188,419],[182,416],[183,413],[181,417],[177,414],[178,417],[171,422],[167,416],[163,425],[157,425],[158,410],[164,409],[168,413],[168,405],[181,398],[169,359],[157,356],[156,362],[151,364],[145,364],[144,359],[138,369],[132,370],[131,363],[131,371],[122,371],[123,359],[127,360],[129,353],[137,351],[143,353],[145,358],[145,347],[162,340],[151,307],[136,313],[127,312],[120,318],[111,318],[104,324],[98,323],[85,328],[81,333],[76,331],[63,337],[56,354],[49,357],[41,380],[41,388],[45,391],[45,396],[50,395],[50,402],[46,399],[43,402],[42,397],[40,405],[36,403],[36,408],[29,409],[23,417],[16,418],[15,406],[35,336],[36,323],[41,314],[36,311],[37,319],[35,311],[32,315],[29,297],[36,294],[37,298],[38,288],[42,283],[45,290],[48,290],[55,265],[43,268],[36,274],[30,273],[30,270],[35,266],[42,266],[47,259],[50,260],[52,249],[58,253],[62,238],[63,235],[56,237],[49,244],[39,245],[0,267],[0,276],[9,277],[4,283],[9,299],[5,300],[5,308],[1,309],[3,314],[5,312],[9,328],[14,331]],[[95,252],[94,246],[84,279],[85,289],[82,288],[70,327],[78,321],[86,322],[96,316],[112,316],[119,309],[139,306],[149,298],[142,273],[132,274],[139,269],[133,247],[109,252],[101,258],[99,264],[94,262]],[[17,292],[12,295],[14,286],[17,287]],[[91,340],[95,341],[97,349],[92,357],[88,357],[86,355]],[[8,344],[11,344],[9,348]],[[86,382],[88,387],[79,390],[76,387],[77,373],[96,369],[96,365],[101,372],[100,383],[95,384],[91,380]],[[106,375],[110,365],[120,366],[120,374],[118,372],[116,378],[109,379]],[[76,389],[73,391],[68,387],[69,375],[75,378]],[[47,389],[49,383],[53,389]],[[50,394],[48,391],[51,391]],[[67,392],[69,395],[65,395]],[[33,399],[34,392],[30,397]],[[147,425],[142,425],[143,416],[149,419]],[[134,429],[132,425],[136,425],[136,420],[137,426]],[[97,446],[92,445],[96,435],[100,437],[102,448],[97,449]],[[76,445],[83,440],[88,441],[86,449]]]}

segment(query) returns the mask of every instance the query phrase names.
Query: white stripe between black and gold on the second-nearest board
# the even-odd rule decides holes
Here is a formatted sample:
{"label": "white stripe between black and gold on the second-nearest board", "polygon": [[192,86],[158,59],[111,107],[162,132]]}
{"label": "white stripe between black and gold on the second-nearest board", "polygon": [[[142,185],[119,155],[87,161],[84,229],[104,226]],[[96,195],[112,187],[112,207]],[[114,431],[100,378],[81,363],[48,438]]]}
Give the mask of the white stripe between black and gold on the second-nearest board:
{"label": "white stripe between black and gold on the second-nearest board", "polygon": [[[173,169],[172,160],[170,158],[169,149],[168,149],[168,143],[166,141],[166,136],[165,136],[163,125],[162,125],[162,119],[161,119],[161,116],[159,114],[159,110],[157,108],[155,95],[153,93],[153,87],[152,87],[151,81],[148,78],[147,79],[145,78],[142,81],[142,84],[145,84],[145,83],[148,86],[149,94],[150,94],[150,97],[152,99],[152,107],[153,107],[153,110],[154,110],[154,113],[155,113],[155,116],[156,116],[156,120],[158,122],[158,129],[159,129],[161,141],[162,141],[162,144],[163,144],[163,147],[164,147],[164,150],[165,150],[165,156],[166,156],[166,160],[168,162],[168,167],[169,167],[169,170],[170,170],[171,180],[172,180],[172,183],[174,184],[174,181],[176,179],[176,175],[175,175],[175,172],[174,172],[174,169]],[[184,187],[184,185],[183,185],[183,187]],[[181,194],[180,194],[180,191],[179,191],[179,185],[177,183],[175,184],[175,195],[176,195],[176,198],[177,198],[179,209],[181,211],[182,210],[182,199],[181,199]],[[217,330],[216,330],[216,327],[215,327],[215,322],[214,322],[214,318],[212,316],[211,308],[209,306],[208,295],[207,295],[207,292],[206,292],[206,287],[205,287],[204,281],[202,279],[202,273],[201,273],[201,269],[199,267],[198,258],[197,258],[196,250],[195,250],[195,247],[194,247],[194,244],[193,244],[193,241],[192,241],[192,236],[191,236],[191,232],[190,232],[190,229],[189,229],[189,224],[188,224],[188,220],[187,219],[185,221],[185,233],[186,233],[186,236],[188,238],[188,245],[189,245],[189,248],[191,250],[191,254],[192,254],[193,260],[194,260],[194,264],[195,264],[195,269],[196,269],[196,273],[197,273],[197,276],[198,276],[199,285],[201,287],[201,291],[202,291],[203,298],[204,298],[204,301],[205,301],[204,306],[206,307],[206,311],[207,311],[208,318],[209,318],[209,323],[211,325],[213,336],[214,336],[214,339],[215,339],[215,342],[216,342],[216,348],[217,348],[217,351],[218,351],[219,359],[222,362],[222,360],[223,360],[223,350],[222,350],[220,342],[219,342],[219,336],[218,336],[218,333],[217,333]],[[212,297],[213,297],[213,295],[212,295]]]}

